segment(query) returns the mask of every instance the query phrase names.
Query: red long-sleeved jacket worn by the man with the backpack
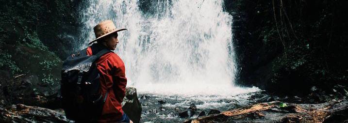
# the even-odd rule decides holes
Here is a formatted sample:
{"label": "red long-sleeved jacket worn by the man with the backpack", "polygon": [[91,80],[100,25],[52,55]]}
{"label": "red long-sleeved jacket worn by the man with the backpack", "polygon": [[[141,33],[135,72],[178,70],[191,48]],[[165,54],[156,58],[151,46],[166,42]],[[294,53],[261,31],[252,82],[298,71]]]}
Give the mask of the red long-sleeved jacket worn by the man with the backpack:
{"label": "red long-sleeved jacket worn by the man with the backpack", "polygon": [[[87,48],[87,55],[92,55],[91,47]],[[117,54],[110,52],[99,58],[97,68],[101,74],[99,79],[100,92],[104,96],[108,91],[99,122],[110,123],[118,121],[123,115],[121,103],[125,96],[127,85],[124,63]]]}

